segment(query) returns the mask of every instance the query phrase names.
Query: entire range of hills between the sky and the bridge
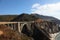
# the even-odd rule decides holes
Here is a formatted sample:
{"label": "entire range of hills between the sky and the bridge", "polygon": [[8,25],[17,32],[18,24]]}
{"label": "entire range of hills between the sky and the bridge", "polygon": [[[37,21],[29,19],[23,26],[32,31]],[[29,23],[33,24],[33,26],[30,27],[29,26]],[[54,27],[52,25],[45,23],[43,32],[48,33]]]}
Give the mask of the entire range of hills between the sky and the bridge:
{"label": "entire range of hills between the sky and the bridge", "polygon": [[45,21],[52,21],[60,24],[60,20],[55,17],[44,16],[39,14],[22,13],[20,15],[0,15],[0,21],[34,21],[39,18]]}

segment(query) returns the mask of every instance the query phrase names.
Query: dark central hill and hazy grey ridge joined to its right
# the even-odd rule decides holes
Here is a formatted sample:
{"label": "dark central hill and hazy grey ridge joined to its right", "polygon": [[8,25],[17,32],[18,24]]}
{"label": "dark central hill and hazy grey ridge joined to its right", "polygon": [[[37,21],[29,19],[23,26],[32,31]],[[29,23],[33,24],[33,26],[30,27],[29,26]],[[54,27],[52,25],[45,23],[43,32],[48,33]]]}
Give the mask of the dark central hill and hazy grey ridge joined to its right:
{"label": "dark central hill and hazy grey ridge joined to its right", "polygon": [[39,14],[20,14],[11,21],[34,21],[37,19],[43,19],[45,21],[52,21],[52,22],[56,22],[60,24],[60,20],[55,17],[44,16],[44,15],[39,15]]}

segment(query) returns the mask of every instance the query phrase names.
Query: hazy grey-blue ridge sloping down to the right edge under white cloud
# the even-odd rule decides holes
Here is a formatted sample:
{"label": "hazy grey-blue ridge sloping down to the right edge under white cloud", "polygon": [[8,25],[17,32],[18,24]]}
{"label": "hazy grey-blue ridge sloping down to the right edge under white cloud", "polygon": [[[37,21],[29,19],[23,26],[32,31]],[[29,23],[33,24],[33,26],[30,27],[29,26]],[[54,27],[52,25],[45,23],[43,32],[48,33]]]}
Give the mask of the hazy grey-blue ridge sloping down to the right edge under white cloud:
{"label": "hazy grey-blue ridge sloping down to the right edge under white cloud", "polygon": [[55,17],[44,16],[44,15],[39,15],[39,14],[32,14],[32,15],[36,16],[37,18],[46,20],[46,21],[52,21],[52,22],[56,22],[56,23],[60,24],[60,20]]}

